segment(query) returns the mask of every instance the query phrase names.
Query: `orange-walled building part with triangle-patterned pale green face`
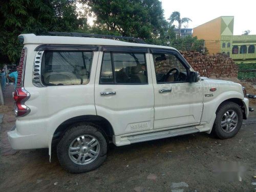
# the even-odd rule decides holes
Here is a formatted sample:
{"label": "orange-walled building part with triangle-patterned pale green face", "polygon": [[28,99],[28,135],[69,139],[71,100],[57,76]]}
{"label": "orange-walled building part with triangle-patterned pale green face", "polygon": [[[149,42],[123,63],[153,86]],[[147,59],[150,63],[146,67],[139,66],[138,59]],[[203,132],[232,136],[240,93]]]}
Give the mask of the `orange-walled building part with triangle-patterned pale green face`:
{"label": "orange-walled building part with triangle-patterned pale green face", "polygon": [[234,17],[221,16],[193,29],[193,36],[205,40],[209,53],[221,52],[221,36],[233,35]]}

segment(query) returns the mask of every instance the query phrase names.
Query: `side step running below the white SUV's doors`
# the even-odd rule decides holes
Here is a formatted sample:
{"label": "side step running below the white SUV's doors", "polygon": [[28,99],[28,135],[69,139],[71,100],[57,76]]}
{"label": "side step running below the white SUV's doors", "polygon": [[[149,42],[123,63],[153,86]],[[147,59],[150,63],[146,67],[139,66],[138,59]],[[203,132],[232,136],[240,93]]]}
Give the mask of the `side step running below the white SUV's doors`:
{"label": "side step running below the white SUV's doors", "polygon": [[196,129],[196,126],[189,126],[181,129],[130,136],[130,137],[127,137],[127,140],[129,140],[131,143],[138,143],[142,141],[151,141],[155,139],[175,137],[178,135],[186,135],[186,134],[197,133],[197,132],[199,132],[199,130]]}

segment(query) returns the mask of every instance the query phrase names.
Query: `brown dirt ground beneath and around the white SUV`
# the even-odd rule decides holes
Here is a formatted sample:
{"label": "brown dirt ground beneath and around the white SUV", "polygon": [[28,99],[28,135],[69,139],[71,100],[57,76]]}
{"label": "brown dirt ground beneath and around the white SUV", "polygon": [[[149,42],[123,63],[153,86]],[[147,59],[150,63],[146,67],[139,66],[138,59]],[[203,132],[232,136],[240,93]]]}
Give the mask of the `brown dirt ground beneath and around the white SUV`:
{"label": "brown dirt ground beneath and around the white SUV", "polygon": [[[7,106],[0,108],[0,191],[256,191],[256,112],[231,139],[198,133],[121,147],[111,144],[99,168],[70,174],[60,167],[55,151],[49,162],[47,149],[11,150],[6,134],[15,117],[7,89]],[[218,163],[232,169],[218,174]]]}

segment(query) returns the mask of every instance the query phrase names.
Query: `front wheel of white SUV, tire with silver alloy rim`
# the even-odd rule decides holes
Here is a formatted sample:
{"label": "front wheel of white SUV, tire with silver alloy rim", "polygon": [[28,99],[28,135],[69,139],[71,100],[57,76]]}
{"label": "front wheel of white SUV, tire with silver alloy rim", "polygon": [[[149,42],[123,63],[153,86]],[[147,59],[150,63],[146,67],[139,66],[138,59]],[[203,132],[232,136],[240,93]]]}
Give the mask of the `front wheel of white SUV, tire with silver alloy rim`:
{"label": "front wheel of white SUV, tire with silver alloy rim", "polygon": [[237,103],[225,102],[216,112],[213,132],[220,139],[234,137],[243,122],[243,112]]}

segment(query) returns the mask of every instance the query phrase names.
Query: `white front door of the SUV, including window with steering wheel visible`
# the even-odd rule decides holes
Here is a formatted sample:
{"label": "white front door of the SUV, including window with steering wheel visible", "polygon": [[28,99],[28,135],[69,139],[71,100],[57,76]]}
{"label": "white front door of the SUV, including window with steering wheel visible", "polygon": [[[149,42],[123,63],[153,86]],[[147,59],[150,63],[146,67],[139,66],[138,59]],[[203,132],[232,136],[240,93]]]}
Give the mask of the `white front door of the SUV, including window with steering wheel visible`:
{"label": "white front door of the SUV, including window with steering wheel visible", "polygon": [[188,82],[192,69],[179,52],[170,49],[152,49],[151,52],[154,129],[199,124],[203,110],[201,82]]}

